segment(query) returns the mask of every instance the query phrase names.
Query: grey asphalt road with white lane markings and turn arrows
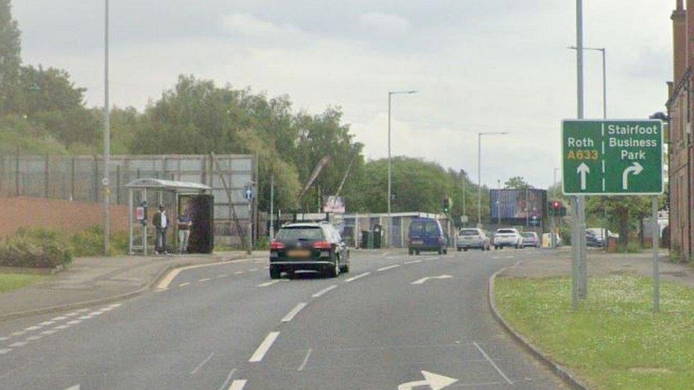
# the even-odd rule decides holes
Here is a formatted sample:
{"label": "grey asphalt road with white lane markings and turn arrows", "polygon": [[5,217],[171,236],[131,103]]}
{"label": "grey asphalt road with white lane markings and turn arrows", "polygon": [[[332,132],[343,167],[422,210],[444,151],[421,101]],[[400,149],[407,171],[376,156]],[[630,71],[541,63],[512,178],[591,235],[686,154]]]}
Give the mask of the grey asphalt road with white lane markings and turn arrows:
{"label": "grey asphalt road with white lane markings and turn arrows", "polygon": [[562,388],[486,300],[491,273],[541,253],[353,251],[338,278],[279,281],[267,259],[187,269],[138,298],[0,323],[0,388]]}

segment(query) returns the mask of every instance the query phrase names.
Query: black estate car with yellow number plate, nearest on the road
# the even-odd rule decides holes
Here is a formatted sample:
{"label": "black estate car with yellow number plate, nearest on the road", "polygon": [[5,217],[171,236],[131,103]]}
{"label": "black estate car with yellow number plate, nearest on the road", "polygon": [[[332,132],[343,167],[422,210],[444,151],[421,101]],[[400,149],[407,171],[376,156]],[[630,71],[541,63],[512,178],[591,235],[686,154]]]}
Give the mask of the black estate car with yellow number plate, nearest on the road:
{"label": "black estate car with yellow number plate, nearest on the road", "polygon": [[270,278],[286,272],[316,271],[335,278],[349,272],[349,249],[333,225],[321,223],[287,224],[270,243]]}

